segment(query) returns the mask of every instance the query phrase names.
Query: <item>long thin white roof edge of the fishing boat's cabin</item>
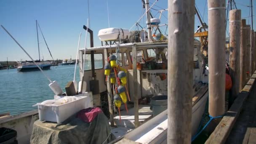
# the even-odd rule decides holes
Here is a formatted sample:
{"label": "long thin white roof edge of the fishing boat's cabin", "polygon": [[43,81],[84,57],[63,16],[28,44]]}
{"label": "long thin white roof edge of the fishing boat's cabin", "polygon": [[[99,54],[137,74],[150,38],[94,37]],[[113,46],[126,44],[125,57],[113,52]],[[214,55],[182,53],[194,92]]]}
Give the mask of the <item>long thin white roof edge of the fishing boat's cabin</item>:
{"label": "long thin white roof edge of the fishing boat's cabin", "polygon": [[[168,41],[154,41],[154,42],[144,42],[144,43],[122,43],[119,45],[119,48],[132,48],[133,45],[136,45],[137,48],[163,48],[168,46]],[[200,42],[195,39],[194,45],[200,45]],[[86,51],[94,51],[94,50],[99,50],[99,49],[104,49],[104,48],[115,48],[117,47],[118,44],[114,45],[103,45],[103,46],[98,46],[98,47],[91,47],[91,48],[86,48]],[[80,48],[79,51],[84,51],[85,48]]]}

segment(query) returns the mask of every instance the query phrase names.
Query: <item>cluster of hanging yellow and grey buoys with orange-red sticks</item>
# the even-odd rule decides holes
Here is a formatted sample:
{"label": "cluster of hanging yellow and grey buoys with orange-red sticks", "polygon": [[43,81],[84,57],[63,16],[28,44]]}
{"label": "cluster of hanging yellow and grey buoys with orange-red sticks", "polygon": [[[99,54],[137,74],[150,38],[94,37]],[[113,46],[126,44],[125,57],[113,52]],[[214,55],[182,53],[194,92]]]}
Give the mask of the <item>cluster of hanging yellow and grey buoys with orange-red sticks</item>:
{"label": "cluster of hanging yellow and grey buoys with orange-red sticks", "polygon": [[[109,77],[110,83],[113,85],[116,85],[115,90],[113,91],[113,93],[115,95],[114,103],[118,109],[119,117],[121,120],[120,107],[121,107],[122,101],[123,101],[123,104],[125,104],[126,111],[128,112],[126,93],[128,95],[129,101],[131,101],[131,100],[130,100],[130,96],[129,96],[129,93],[128,93],[128,90],[126,87],[126,83],[127,83],[126,73],[124,71],[118,69],[116,60],[117,60],[116,56],[111,54],[108,58],[108,63],[105,64],[105,66],[104,66],[104,69],[105,69],[106,81],[107,81],[107,78]],[[119,72],[118,72],[118,70],[119,70]]]}

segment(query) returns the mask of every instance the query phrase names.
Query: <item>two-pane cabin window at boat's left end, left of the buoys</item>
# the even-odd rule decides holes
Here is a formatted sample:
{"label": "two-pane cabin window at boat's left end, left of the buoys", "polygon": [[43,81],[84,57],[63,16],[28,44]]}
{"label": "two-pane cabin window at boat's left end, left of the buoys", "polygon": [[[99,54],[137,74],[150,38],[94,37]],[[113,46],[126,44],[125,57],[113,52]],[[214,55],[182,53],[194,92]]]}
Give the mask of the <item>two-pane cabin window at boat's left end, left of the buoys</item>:
{"label": "two-pane cabin window at boat's left end, left of the buoys", "polygon": [[[84,55],[83,55],[84,58]],[[85,54],[85,68],[84,70],[91,70],[91,54]],[[94,67],[95,69],[103,68],[103,54],[94,53]]]}

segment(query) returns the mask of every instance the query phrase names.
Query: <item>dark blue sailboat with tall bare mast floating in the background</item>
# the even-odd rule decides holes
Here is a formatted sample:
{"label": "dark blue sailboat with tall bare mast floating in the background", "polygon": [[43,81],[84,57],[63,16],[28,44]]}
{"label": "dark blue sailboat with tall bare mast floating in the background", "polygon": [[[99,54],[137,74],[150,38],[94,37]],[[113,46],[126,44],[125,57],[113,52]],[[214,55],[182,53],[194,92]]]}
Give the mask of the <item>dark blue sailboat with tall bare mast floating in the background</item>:
{"label": "dark blue sailboat with tall bare mast floating in the background", "polygon": [[[38,24],[37,24],[37,20],[36,20],[36,27],[37,27],[37,25]],[[37,45],[38,45],[39,60],[35,61],[35,62],[43,70],[50,69],[51,68],[51,62],[49,62],[49,61],[40,61],[38,30],[37,30]],[[17,67],[17,71],[19,71],[19,72],[40,70],[33,61],[20,62],[18,65],[19,66]]]}

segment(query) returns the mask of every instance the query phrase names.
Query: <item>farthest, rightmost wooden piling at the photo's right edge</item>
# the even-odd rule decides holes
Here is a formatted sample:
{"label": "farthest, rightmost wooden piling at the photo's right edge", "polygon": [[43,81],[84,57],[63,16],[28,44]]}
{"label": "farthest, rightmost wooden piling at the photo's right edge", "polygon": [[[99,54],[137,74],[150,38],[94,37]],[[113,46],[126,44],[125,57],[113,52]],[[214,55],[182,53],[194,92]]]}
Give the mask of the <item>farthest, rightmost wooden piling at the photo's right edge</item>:
{"label": "farthest, rightmost wooden piling at the photo's right edge", "polygon": [[250,77],[255,70],[254,32],[250,31]]}

